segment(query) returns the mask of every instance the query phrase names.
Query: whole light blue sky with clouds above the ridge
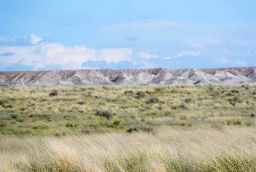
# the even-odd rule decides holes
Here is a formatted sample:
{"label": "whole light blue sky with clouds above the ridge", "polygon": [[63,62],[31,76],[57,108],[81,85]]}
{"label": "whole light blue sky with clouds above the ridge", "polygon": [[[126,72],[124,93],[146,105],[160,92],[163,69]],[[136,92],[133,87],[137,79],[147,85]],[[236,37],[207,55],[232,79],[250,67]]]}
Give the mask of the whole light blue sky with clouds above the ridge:
{"label": "whole light blue sky with clouds above the ridge", "polygon": [[256,1],[0,0],[0,71],[256,66]]}

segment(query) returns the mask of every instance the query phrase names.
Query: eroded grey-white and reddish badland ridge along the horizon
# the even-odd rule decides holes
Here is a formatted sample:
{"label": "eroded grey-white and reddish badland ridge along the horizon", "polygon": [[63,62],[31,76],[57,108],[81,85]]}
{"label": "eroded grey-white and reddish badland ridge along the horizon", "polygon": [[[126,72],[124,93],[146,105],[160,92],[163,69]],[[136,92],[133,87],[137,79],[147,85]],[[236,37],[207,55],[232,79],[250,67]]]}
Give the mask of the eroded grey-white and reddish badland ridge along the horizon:
{"label": "eroded grey-white and reddish badland ridge along the horizon", "polygon": [[247,84],[254,82],[256,82],[256,67],[0,72],[1,87],[37,85]]}

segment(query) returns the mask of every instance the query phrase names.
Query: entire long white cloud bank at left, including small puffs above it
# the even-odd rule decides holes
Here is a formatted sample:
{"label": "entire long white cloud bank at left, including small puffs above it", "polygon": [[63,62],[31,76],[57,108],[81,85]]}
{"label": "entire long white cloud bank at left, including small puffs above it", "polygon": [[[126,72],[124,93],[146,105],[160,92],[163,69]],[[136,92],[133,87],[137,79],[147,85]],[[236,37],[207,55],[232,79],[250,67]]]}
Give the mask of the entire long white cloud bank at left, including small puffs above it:
{"label": "entire long white cloud bank at left, including small puffs above it", "polygon": [[[23,39],[30,39],[29,36]],[[39,39],[34,38],[33,43]],[[59,43],[41,43],[30,46],[0,46],[0,63],[3,67],[26,65],[33,70],[48,69],[84,69],[87,61],[104,60],[111,62],[131,61],[132,49],[109,48],[96,51],[83,45],[65,46]],[[11,56],[6,58],[4,56]]]}

